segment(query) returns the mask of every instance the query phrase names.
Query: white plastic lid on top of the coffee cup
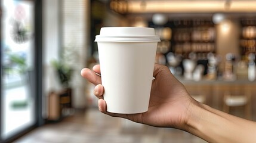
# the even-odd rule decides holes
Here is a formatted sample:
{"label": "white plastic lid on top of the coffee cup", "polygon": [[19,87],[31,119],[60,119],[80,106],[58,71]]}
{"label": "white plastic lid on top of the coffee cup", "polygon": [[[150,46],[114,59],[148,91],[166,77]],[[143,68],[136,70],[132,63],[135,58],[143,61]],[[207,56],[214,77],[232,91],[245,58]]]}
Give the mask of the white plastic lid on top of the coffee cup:
{"label": "white plastic lid on top of the coffee cup", "polygon": [[148,27],[102,27],[95,42],[160,42],[160,38]]}

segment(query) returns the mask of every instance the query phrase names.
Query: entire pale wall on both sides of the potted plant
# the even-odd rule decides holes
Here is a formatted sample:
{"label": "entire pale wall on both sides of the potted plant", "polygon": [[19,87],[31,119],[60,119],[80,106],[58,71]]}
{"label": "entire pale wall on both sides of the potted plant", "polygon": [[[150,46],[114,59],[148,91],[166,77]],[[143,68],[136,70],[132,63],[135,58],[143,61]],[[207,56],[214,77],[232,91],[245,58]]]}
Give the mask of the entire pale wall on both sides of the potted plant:
{"label": "entire pale wall on both sides of the potted plant", "polygon": [[[72,48],[75,54],[70,57],[73,71],[72,104],[75,108],[84,108],[85,80],[80,71],[86,66],[89,47],[89,8],[87,0],[44,0],[43,2],[43,116],[47,117],[48,94],[60,91],[61,85],[51,61],[59,60],[60,52]],[[60,35],[61,34],[61,35]]]}

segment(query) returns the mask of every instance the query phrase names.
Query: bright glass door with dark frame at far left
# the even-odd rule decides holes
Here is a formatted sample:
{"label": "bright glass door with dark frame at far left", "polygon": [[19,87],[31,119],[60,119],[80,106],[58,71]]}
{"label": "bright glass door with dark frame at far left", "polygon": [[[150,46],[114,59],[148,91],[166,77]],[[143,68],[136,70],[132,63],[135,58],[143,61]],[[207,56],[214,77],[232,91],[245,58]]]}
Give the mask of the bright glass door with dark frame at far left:
{"label": "bright glass door with dark frame at far left", "polygon": [[1,140],[35,124],[35,2],[1,0]]}

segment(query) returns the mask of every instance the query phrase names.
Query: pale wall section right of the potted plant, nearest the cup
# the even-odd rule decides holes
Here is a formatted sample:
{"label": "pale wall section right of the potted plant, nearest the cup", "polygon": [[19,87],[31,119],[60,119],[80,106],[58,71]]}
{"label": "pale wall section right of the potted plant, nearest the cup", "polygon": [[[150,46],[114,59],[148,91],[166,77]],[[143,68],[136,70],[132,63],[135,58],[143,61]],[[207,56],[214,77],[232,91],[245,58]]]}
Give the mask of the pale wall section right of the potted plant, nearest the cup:
{"label": "pale wall section right of the potted plant, nearest the cup", "polygon": [[62,2],[63,48],[66,52],[73,52],[67,61],[74,70],[72,105],[75,108],[84,108],[86,106],[85,80],[81,77],[80,72],[87,62],[90,1],[64,0]]}

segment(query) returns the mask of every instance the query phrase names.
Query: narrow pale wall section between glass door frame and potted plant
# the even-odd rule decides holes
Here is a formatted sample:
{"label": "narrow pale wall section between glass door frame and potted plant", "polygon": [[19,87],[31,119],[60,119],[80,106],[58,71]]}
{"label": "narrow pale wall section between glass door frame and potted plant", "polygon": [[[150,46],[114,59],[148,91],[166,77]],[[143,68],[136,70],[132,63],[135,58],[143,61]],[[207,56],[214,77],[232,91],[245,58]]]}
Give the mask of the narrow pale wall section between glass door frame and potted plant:
{"label": "narrow pale wall section between glass door frame and potted plant", "polygon": [[57,75],[52,60],[58,60],[59,51],[59,0],[42,1],[42,51],[43,51],[43,93],[42,93],[42,114],[47,117],[48,93],[60,89]]}

